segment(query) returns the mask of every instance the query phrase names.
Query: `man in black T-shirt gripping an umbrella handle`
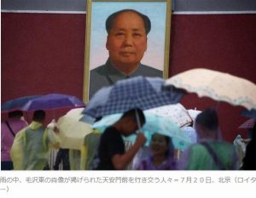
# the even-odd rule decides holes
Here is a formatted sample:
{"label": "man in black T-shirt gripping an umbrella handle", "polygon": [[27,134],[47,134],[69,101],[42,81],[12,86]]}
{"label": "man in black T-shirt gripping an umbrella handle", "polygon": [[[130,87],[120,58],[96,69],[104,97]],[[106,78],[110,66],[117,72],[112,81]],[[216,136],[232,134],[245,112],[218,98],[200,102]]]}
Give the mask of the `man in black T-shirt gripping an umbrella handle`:
{"label": "man in black T-shirt gripping an umbrella handle", "polygon": [[143,133],[137,133],[135,144],[125,152],[122,135],[126,137],[135,133],[145,122],[143,110],[131,109],[126,111],[119,121],[108,127],[100,139],[96,170],[124,170],[146,142],[146,138]]}

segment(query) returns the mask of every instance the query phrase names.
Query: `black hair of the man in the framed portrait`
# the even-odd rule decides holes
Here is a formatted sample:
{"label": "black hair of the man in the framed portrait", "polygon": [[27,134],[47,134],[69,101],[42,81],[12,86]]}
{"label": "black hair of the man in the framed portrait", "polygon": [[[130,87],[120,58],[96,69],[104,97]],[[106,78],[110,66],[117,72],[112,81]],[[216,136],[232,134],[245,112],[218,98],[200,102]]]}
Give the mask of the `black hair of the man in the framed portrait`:
{"label": "black hair of the man in the framed portrait", "polygon": [[119,15],[119,14],[122,14],[124,12],[133,12],[135,14],[138,14],[142,19],[143,19],[143,23],[144,23],[144,27],[145,27],[145,31],[146,31],[146,34],[148,34],[148,32],[151,30],[151,22],[148,18],[147,15],[145,14],[142,14],[140,12],[138,12],[137,10],[134,10],[134,9],[122,9],[122,10],[119,10],[118,12],[115,12],[113,14],[110,14],[108,16],[108,19],[106,20],[106,31],[109,32],[111,31],[112,27],[113,27],[113,20]]}

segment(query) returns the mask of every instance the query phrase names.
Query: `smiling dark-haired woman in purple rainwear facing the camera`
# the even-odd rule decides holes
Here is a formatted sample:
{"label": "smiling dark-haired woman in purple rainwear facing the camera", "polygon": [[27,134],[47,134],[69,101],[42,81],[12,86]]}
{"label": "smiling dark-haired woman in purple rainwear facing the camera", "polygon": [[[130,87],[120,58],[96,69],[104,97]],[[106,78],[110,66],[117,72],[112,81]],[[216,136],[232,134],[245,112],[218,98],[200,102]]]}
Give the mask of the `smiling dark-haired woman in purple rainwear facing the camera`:
{"label": "smiling dark-haired woman in purple rainwear facing the camera", "polygon": [[137,170],[175,170],[172,138],[154,133],[150,142],[150,156],[137,166]]}

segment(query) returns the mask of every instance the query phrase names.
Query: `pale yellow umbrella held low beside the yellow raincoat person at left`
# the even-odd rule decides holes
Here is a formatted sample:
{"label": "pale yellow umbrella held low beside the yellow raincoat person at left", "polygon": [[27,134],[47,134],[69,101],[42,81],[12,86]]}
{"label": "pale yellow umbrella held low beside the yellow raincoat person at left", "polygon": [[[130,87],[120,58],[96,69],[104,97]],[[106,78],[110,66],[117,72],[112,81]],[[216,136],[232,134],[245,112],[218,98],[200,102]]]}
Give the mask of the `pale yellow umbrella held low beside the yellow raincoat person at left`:
{"label": "pale yellow umbrella held low beside the yellow raincoat person at left", "polygon": [[61,148],[80,150],[84,144],[84,137],[92,132],[92,128],[85,122],[79,122],[70,116],[61,116],[57,122],[60,130]]}

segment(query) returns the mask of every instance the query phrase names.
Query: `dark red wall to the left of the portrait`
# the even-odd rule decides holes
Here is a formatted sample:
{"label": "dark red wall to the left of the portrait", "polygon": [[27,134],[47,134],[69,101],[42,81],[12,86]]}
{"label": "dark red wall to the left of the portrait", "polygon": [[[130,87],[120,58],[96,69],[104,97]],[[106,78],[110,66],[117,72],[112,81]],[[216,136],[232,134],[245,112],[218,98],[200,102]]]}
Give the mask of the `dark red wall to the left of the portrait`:
{"label": "dark red wall to the left of the portrait", "polygon": [[2,13],[2,103],[22,95],[83,96],[83,14]]}

